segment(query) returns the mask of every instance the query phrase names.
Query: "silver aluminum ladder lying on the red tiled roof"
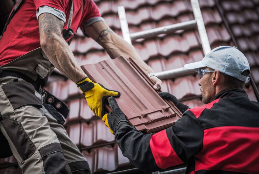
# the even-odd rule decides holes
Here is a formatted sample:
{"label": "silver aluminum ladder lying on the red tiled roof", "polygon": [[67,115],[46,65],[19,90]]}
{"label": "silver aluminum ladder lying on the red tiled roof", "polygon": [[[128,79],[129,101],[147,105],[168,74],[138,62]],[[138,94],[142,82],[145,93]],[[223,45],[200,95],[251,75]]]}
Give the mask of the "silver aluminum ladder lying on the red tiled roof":
{"label": "silver aluminum ladder lying on the red tiled roof", "polygon": [[[193,14],[195,17],[194,20],[181,22],[181,23],[177,23],[177,24],[172,24],[172,25],[167,25],[167,26],[162,26],[159,28],[154,28],[154,29],[135,32],[135,33],[130,34],[124,6],[119,5],[117,7],[117,9],[118,9],[120,26],[121,26],[123,38],[128,43],[132,44],[131,43],[132,40],[136,40],[139,38],[148,38],[148,37],[152,37],[152,36],[157,36],[159,34],[166,34],[166,33],[174,32],[177,30],[183,30],[183,29],[187,29],[187,28],[197,27],[198,32],[199,32],[200,41],[202,43],[203,52],[204,52],[204,55],[206,55],[208,52],[211,51],[211,48],[210,48],[210,43],[208,41],[208,36],[206,33],[205,25],[204,25],[203,18],[202,18],[202,12],[200,11],[200,6],[198,3],[198,0],[191,0],[191,6],[192,6],[192,11],[193,11]],[[156,74],[157,74],[158,78],[166,79],[166,78],[174,78],[174,77],[178,77],[178,76],[188,75],[193,72],[194,72],[193,70],[187,70],[184,67],[182,67],[182,68],[158,72]]]}

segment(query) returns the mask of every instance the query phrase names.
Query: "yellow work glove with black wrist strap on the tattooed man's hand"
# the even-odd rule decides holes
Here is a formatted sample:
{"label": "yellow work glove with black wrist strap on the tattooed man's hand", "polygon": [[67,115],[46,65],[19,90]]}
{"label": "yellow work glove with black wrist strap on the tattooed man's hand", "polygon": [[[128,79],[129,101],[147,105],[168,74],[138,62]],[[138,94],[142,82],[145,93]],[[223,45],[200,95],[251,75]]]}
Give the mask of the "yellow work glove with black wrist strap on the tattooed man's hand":
{"label": "yellow work glove with black wrist strap on the tattooed man's hand", "polygon": [[120,92],[109,90],[100,83],[94,83],[88,77],[76,82],[76,84],[83,92],[89,108],[100,118],[104,115],[104,99],[110,96],[120,97]]}

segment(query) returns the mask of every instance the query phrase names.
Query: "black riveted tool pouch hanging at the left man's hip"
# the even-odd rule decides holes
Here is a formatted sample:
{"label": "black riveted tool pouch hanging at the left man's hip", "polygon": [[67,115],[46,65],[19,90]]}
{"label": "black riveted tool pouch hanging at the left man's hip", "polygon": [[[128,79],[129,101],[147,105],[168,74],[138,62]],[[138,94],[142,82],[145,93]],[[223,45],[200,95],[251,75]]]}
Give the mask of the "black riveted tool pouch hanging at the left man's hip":
{"label": "black riveted tool pouch hanging at the left man's hip", "polygon": [[45,98],[45,108],[49,111],[49,113],[51,113],[51,115],[57,120],[59,124],[63,125],[69,112],[69,108],[66,103],[62,102],[46,90],[44,90],[42,94]]}

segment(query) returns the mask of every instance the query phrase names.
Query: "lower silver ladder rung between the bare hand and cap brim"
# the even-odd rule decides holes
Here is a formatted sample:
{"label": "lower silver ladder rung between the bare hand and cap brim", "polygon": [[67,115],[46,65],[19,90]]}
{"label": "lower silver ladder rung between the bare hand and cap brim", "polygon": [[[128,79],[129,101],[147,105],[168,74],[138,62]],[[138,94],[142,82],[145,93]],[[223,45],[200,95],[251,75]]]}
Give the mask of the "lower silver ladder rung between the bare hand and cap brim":
{"label": "lower silver ladder rung between the bare hand and cap brim", "polygon": [[184,76],[184,75],[189,75],[195,73],[194,70],[188,70],[185,69],[184,67],[182,68],[176,68],[172,70],[167,70],[167,71],[162,71],[162,72],[157,72],[156,75],[159,79],[168,79],[168,78],[175,78],[178,76]]}

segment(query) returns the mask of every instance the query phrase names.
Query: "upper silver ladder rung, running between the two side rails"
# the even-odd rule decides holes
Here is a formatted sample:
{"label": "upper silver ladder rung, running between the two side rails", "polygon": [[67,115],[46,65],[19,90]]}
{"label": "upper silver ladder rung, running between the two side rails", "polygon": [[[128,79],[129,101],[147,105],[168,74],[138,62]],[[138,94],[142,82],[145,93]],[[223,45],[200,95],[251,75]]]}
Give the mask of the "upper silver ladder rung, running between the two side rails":
{"label": "upper silver ladder rung, running between the two side rails", "polygon": [[183,29],[192,28],[192,27],[197,27],[195,20],[162,26],[162,27],[154,28],[150,30],[135,32],[130,34],[130,37],[131,37],[131,40],[136,40],[139,38],[157,36],[159,34],[166,34],[172,31],[183,30]]}

